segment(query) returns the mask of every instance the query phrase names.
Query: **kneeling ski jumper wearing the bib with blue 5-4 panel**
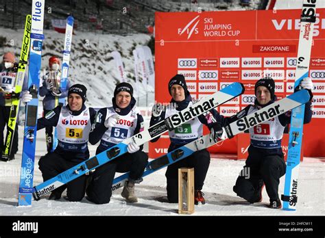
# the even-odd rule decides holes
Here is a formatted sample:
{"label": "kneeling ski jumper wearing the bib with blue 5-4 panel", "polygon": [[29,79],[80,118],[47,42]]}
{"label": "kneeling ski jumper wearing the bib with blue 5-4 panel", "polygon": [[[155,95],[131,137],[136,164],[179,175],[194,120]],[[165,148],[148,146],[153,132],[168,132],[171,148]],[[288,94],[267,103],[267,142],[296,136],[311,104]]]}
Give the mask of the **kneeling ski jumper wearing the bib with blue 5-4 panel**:
{"label": "kneeling ski jumper wearing the bib with blue 5-4 panel", "polygon": [[[97,112],[89,136],[91,144],[96,144],[100,140],[96,155],[143,131],[143,117],[137,113],[135,104],[132,85],[119,83],[114,91],[112,107],[102,108]],[[142,174],[148,161],[147,155],[142,150],[143,146],[131,142],[128,144],[128,153],[96,168],[86,190],[88,200],[96,204],[110,202],[115,172],[130,171],[121,196],[127,202],[137,202],[134,184],[143,181]]]}

